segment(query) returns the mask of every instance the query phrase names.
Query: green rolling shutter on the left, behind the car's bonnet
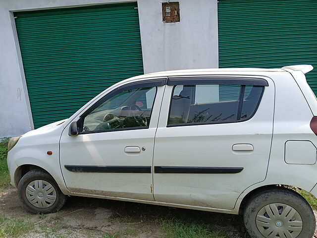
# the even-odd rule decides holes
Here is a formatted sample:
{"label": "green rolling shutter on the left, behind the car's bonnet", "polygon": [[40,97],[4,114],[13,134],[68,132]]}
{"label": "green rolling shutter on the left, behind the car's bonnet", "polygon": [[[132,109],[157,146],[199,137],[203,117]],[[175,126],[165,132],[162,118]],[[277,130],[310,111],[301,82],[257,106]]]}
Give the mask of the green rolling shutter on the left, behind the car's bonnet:
{"label": "green rolling shutter on the left, behind the car's bonnet", "polygon": [[35,128],[143,74],[137,3],[15,12]]}

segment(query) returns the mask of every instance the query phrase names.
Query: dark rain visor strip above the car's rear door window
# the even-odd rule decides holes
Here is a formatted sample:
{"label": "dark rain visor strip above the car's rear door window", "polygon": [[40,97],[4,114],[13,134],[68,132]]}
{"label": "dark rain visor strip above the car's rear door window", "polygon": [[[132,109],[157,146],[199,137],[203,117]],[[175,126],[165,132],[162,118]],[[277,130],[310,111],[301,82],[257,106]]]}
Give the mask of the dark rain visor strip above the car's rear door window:
{"label": "dark rain visor strip above the car's rear door window", "polygon": [[197,85],[197,84],[239,84],[268,86],[268,82],[263,78],[247,78],[247,77],[221,77],[221,76],[181,76],[168,77],[167,85]]}

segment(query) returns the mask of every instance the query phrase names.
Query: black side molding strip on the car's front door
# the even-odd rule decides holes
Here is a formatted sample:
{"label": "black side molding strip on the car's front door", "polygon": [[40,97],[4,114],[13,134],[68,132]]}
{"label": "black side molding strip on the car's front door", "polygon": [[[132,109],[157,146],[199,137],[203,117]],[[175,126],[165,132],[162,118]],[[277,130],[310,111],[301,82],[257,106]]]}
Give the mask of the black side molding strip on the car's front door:
{"label": "black side molding strip on the car's front door", "polygon": [[65,165],[70,172],[82,173],[140,173],[151,174],[151,166],[83,166]]}

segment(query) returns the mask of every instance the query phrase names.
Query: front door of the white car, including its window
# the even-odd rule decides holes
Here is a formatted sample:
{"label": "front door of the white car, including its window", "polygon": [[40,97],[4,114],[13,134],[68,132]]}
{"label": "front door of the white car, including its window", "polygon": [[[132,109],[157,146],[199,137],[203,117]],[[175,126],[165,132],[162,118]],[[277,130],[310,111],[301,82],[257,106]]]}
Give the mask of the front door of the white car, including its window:
{"label": "front door of the white car, including its window", "polygon": [[79,134],[65,127],[60,167],[77,195],[153,201],[154,137],[165,79],[120,86],[79,114]]}

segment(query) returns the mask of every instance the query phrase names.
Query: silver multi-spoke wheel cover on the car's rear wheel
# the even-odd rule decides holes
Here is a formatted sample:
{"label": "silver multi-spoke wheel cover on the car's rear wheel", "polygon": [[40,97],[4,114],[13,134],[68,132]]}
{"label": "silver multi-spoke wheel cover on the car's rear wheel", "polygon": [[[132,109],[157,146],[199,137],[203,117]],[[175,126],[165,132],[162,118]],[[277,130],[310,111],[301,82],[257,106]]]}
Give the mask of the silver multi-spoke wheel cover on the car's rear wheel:
{"label": "silver multi-spoke wheel cover on the car's rear wheel", "polygon": [[282,203],[271,203],[261,208],[256,224],[265,238],[296,238],[303,229],[300,214]]}

